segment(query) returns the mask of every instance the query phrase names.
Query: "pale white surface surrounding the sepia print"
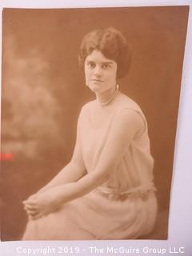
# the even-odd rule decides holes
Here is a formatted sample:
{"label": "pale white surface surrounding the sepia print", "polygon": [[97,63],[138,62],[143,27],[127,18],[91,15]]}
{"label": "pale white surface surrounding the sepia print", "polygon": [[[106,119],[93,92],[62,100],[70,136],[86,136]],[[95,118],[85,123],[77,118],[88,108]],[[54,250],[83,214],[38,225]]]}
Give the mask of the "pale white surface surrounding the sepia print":
{"label": "pale white surface surrounding the sepia print", "polygon": [[[161,3],[160,3],[161,2]],[[0,7],[2,8],[78,8],[78,7],[120,7],[120,6],[190,6],[190,1],[109,1],[107,5],[103,4],[103,1],[84,1],[77,5],[77,2],[67,1],[61,3],[57,1],[34,1],[26,4],[25,1],[2,1]],[[2,23],[2,13],[1,13],[1,23]],[[2,26],[1,26],[1,42],[2,42]],[[106,246],[120,247],[124,246],[126,248],[139,249],[139,255],[145,255],[143,248],[148,247],[154,249],[153,254],[158,255],[156,249],[165,249],[164,255],[169,255],[171,251],[176,251],[183,253],[183,255],[189,256],[192,253],[192,245],[190,238],[192,237],[192,202],[189,200],[189,196],[192,193],[192,186],[190,185],[190,180],[192,178],[191,171],[192,164],[190,162],[190,145],[192,143],[192,121],[190,113],[192,113],[192,101],[191,93],[192,86],[190,81],[192,81],[192,74],[190,72],[190,67],[192,66],[192,22],[191,22],[191,12],[189,14],[188,31],[186,37],[186,50],[184,55],[183,63],[183,74],[182,74],[182,87],[180,94],[180,103],[178,110],[178,126],[177,126],[177,136],[174,150],[174,170],[172,177],[171,186],[171,197],[170,197],[170,218],[169,218],[169,235],[168,240],[126,240],[126,241],[83,241],[83,242],[1,242],[0,250],[3,255],[24,255],[22,250],[18,251],[19,248],[37,249],[46,248],[50,246],[56,248],[58,246],[79,246],[81,250],[86,250],[83,254],[78,255],[94,255],[89,247],[96,246],[97,248],[104,248]],[[2,44],[1,44],[2,52]],[[1,69],[2,70],[2,69]],[[2,74],[1,74],[2,75]],[[176,223],[176,224],[175,224]],[[137,252],[134,252],[138,254]],[[43,254],[43,253],[42,253]],[[101,252],[102,254],[102,252]],[[35,255],[35,254],[30,254]],[[57,254],[55,254],[57,255]],[[98,254],[99,255],[99,254]],[[117,255],[117,254],[116,254]],[[131,254],[134,255],[134,254]]]}

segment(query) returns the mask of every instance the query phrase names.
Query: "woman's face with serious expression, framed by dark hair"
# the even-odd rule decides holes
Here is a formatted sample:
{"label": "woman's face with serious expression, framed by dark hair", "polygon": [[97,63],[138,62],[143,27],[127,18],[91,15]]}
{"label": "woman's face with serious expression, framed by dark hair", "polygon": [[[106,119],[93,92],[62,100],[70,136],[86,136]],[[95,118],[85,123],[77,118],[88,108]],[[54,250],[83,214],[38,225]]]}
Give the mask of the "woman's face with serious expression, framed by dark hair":
{"label": "woman's face with serious expression, framed by dark hair", "polygon": [[116,86],[117,63],[106,58],[100,50],[93,50],[85,60],[86,85],[94,93],[102,93]]}

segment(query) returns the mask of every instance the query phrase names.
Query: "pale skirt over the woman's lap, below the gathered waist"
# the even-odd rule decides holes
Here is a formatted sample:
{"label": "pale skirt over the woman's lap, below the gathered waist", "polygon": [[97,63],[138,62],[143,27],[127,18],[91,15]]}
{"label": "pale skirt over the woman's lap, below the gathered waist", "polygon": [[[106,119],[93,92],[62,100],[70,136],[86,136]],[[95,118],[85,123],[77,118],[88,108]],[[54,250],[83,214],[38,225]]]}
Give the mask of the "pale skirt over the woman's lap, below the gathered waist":
{"label": "pale skirt over the woman's lap, below the gathered waist", "polygon": [[153,193],[145,200],[112,201],[93,193],[27,223],[22,240],[138,238],[152,230],[157,212]]}

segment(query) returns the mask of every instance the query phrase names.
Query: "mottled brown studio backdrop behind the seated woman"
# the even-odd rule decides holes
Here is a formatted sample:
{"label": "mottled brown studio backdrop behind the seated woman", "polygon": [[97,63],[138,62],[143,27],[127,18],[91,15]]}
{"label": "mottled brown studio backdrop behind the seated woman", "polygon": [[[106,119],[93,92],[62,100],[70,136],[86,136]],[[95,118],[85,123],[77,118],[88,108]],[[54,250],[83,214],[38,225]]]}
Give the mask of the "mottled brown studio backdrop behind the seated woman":
{"label": "mottled brown studio backdrop behind the seated woman", "polygon": [[165,239],[186,39],[186,6],[68,10],[3,10],[2,240],[19,240],[22,200],[45,185],[73,152],[81,106],[94,98],[78,67],[84,34],[114,26],[132,51],[122,92],[142,107],[149,125],[158,188],[158,226]]}

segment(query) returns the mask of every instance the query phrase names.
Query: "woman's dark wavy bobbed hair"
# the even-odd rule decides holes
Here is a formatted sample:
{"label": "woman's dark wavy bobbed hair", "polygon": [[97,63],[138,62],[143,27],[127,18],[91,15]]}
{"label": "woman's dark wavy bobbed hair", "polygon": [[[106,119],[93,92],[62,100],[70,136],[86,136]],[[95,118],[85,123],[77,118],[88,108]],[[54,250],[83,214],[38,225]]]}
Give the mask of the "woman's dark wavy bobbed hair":
{"label": "woman's dark wavy bobbed hair", "polygon": [[124,77],[130,66],[130,50],[126,38],[114,27],[101,30],[93,30],[82,39],[78,61],[84,66],[86,57],[93,50],[100,50],[109,59],[114,60],[118,65],[117,78]]}

